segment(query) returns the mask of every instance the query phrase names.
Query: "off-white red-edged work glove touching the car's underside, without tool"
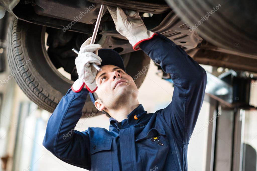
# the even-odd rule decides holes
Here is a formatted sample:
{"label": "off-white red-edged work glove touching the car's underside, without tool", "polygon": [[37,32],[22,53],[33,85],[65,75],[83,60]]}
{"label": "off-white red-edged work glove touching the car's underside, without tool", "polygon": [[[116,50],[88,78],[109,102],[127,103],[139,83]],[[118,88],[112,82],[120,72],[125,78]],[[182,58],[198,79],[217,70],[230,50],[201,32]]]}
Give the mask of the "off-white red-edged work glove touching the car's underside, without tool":
{"label": "off-white red-edged work glove touching the car's underside, without tool", "polygon": [[134,50],[139,49],[137,45],[141,42],[157,35],[147,30],[138,11],[128,9],[123,11],[120,7],[112,6],[107,6],[107,9],[113,18],[117,32],[128,39]]}

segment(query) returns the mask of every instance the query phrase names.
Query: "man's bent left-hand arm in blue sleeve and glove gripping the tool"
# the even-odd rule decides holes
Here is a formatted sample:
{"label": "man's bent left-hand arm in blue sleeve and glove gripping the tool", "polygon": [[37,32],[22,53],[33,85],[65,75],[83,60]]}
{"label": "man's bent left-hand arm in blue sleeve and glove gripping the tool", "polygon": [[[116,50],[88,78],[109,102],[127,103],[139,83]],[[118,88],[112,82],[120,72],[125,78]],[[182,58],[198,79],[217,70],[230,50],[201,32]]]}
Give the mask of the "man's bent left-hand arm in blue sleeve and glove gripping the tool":
{"label": "man's bent left-hand arm in blue sleeve and glove gripping the tool", "polygon": [[50,116],[43,141],[45,148],[59,159],[88,170],[91,167],[89,135],[87,130],[79,132],[74,128],[82,116],[88,93],[97,89],[97,71],[90,67],[90,63],[101,64],[102,59],[96,54],[102,46],[90,44],[91,38],[89,37],[79,49],[75,59],[78,79]]}

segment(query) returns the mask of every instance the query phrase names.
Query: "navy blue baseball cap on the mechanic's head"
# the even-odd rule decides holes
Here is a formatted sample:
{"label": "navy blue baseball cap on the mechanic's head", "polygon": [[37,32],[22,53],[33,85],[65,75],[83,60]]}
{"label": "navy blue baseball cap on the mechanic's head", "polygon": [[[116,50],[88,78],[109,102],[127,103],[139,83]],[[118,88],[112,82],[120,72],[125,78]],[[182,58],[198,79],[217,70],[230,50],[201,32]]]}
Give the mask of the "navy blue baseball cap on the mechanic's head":
{"label": "navy blue baseball cap on the mechanic's head", "polygon": [[[104,66],[104,65],[115,65],[117,67],[120,67],[123,69],[123,71],[126,72],[123,59],[121,55],[113,50],[113,49],[99,49],[98,50],[98,56],[102,59],[101,65],[98,66]],[[93,93],[90,93],[90,98],[93,104],[95,104],[95,99],[93,96]]]}

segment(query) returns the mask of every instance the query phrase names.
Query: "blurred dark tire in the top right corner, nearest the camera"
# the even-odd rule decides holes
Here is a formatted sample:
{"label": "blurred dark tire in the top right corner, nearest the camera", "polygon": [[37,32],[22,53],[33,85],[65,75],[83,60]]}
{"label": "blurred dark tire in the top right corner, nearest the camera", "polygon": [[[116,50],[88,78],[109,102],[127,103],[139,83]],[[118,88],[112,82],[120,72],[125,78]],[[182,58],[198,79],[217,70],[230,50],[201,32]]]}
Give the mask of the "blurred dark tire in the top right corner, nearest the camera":
{"label": "blurred dark tire in the top right corner, nearest the camera", "polygon": [[190,29],[197,30],[198,34],[208,42],[221,48],[257,55],[257,1],[166,0],[166,2],[183,21],[188,23],[189,27],[191,26]]}

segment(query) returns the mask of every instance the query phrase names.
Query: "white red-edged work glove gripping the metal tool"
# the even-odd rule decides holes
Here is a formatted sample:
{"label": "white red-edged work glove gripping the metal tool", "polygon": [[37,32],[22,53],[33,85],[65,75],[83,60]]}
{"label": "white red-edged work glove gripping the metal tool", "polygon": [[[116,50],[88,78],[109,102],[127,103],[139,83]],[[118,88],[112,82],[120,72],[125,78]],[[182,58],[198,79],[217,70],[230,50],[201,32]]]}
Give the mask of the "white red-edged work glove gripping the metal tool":
{"label": "white red-edged work glove gripping the metal tool", "polygon": [[[79,92],[84,85],[90,93],[93,93],[97,89],[96,85],[96,68],[90,63],[96,63],[101,65],[102,59],[97,55],[98,49],[102,48],[99,44],[91,44],[92,37],[89,37],[80,47],[78,57],[75,59],[77,72],[79,78],[71,86],[72,91]],[[93,52],[96,51],[96,54]]]}

